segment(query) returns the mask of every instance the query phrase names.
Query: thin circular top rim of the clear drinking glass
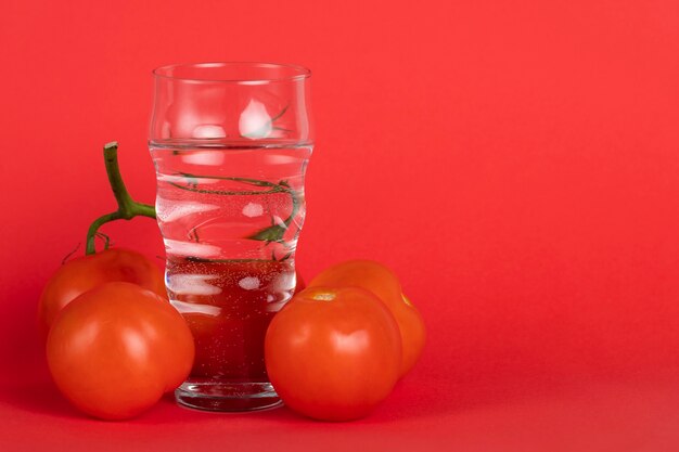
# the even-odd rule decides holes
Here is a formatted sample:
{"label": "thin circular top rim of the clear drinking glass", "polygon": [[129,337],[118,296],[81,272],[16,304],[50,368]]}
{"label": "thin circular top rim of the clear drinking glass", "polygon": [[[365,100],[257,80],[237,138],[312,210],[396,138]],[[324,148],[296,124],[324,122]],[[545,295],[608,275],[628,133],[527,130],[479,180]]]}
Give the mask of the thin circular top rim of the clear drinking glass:
{"label": "thin circular top rim of the clear drinking glass", "polygon": [[[268,68],[287,68],[293,69],[295,74],[284,77],[253,77],[253,78],[198,78],[198,77],[178,77],[168,75],[176,68],[209,68],[209,67],[268,67]],[[165,74],[164,74],[165,73]],[[187,81],[193,83],[249,83],[249,85],[264,85],[280,81],[297,81],[311,77],[311,70],[305,66],[298,64],[289,63],[269,63],[269,62],[249,62],[249,61],[233,61],[233,62],[203,62],[203,63],[178,63],[167,64],[156,67],[152,70],[154,77],[163,78],[167,80]]]}

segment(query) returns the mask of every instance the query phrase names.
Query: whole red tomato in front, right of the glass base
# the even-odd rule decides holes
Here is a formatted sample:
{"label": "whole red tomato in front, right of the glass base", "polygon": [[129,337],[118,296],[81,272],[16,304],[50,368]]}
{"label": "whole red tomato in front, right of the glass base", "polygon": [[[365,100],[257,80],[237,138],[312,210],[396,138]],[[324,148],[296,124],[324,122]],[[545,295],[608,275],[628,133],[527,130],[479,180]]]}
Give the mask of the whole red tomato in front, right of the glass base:
{"label": "whole red tomato in front, right of the glass base", "polygon": [[400,337],[388,309],[357,287],[307,288],[273,318],[269,378],[294,411],[324,421],[369,414],[399,377]]}

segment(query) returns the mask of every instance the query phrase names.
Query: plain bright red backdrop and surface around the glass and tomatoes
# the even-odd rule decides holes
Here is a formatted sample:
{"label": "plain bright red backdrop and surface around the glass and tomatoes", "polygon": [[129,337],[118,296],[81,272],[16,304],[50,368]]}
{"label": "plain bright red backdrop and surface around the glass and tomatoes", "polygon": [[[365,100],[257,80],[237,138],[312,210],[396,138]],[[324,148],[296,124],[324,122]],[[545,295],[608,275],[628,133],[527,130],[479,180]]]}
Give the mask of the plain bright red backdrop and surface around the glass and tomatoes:
{"label": "plain bright red backdrop and surface around the glass and tomatoes", "polygon": [[[4,0],[0,449],[677,450],[678,55],[677,1]],[[47,376],[40,289],[114,208],[105,142],[153,199],[151,69],[233,60],[313,70],[298,266],[393,267],[424,357],[350,424],[86,418]],[[162,250],[153,221],[107,231]]]}

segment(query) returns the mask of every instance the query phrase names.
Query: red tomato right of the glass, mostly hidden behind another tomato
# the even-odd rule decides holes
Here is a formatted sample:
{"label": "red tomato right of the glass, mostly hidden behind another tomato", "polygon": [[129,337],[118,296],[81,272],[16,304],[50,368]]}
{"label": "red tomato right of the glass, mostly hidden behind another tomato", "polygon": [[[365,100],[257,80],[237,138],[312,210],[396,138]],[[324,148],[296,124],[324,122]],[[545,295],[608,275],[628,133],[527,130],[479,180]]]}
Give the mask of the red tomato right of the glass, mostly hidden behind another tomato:
{"label": "red tomato right of the glass, mostly hidden behind another tomato", "polygon": [[415,364],[424,343],[426,328],[418,309],[402,294],[396,274],[380,262],[349,260],[330,267],[309,283],[309,287],[361,287],[376,295],[389,308],[398,323],[403,348],[400,375]]}

